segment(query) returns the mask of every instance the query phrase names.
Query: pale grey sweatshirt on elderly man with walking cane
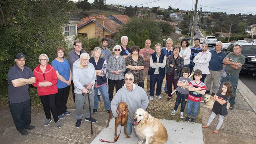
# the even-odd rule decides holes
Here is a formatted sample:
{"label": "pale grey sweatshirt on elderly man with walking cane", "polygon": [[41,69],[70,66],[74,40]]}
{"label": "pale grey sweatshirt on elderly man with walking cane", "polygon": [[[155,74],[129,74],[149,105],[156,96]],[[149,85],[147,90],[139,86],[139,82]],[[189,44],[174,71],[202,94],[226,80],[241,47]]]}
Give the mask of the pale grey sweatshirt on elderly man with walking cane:
{"label": "pale grey sweatshirt on elderly man with walking cane", "polygon": [[88,85],[89,83],[95,84],[96,72],[93,64],[88,62],[88,67],[84,68],[81,65],[80,59],[76,60],[73,64],[72,78],[75,85],[74,93],[82,94],[83,85]]}

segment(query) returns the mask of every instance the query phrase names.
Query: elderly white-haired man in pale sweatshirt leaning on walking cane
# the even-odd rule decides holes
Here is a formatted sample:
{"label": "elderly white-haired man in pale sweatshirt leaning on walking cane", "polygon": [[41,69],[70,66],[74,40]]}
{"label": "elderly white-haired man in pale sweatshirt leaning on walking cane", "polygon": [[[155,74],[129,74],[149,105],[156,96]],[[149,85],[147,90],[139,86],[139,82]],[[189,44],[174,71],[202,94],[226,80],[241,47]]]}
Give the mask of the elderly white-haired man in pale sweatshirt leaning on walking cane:
{"label": "elderly white-haired man in pale sweatshirt leaning on walking cane", "polygon": [[[93,64],[89,63],[90,56],[87,53],[82,53],[80,59],[76,60],[73,64],[73,82],[74,82],[74,93],[76,98],[76,128],[81,126],[83,118],[83,105],[86,103],[85,107],[85,121],[86,122],[97,122],[94,118],[90,117],[89,111],[89,100],[87,95],[89,92],[90,95],[90,105],[91,113],[93,113],[94,107],[94,89],[93,85],[95,84],[96,72]],[[84,87],[84,85],[86,85]]]}

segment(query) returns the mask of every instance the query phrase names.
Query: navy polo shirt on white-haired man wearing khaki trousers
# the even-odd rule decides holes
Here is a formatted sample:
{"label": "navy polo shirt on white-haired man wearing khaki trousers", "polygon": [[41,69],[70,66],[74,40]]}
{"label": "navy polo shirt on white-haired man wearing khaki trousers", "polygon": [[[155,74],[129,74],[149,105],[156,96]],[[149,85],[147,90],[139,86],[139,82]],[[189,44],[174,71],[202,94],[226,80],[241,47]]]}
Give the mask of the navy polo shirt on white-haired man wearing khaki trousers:
{"label": "navy polo shirt on white-haired man wearing khaki trousers", "polygon": [[215,50],[211,50],[211,60],[209,62],[209,70],[219,71],[222,70],[222,61],[226,57],[226,54],[221,51],[217,54]]}

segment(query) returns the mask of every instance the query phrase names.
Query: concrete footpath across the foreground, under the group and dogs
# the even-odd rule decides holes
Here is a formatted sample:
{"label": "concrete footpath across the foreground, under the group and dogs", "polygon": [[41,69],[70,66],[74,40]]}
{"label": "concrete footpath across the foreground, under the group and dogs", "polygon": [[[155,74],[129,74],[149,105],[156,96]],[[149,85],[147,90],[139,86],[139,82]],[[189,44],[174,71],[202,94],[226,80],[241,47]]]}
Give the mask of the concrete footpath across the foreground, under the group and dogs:
{"label": "concrete footpath across the foreground, under the group and dogs", "polygon": [[[203,103],[201,103],[203,105]],[[208,128],[201,128],[201,124],[161,120],[166,126],[169,141],[167,144],[256,144],[256,96],[241,82],[238,83],[236,105],[234,110],[228,110],[223,126],[218,134],[212,131],[217,126],[217,118]],[[54,122],[44,126],[45,114],[32,111],[32,125],[36,129],[28,131],[22,136],[15,128],[9,109],[1,110],[0,143],[1,144],[100,144],[98,139],[113,140],[114,120],[105,129],[108,114],[98,112],[93,118],[98,120],[93,124],[93,135],[89,122],[84,118],[80,128],[75,127],[75,109],[69,109],[72,114],[61,120],[62,127],[58,129]],[[206,124],[211,109],[200,107],[202,124]],[[123,127],[122,127],[123,128]],[[118,128],[118,132],[119,132]],[[129,140],[124,137],[123,129],[117,144],[137,144],[137,137],[131,134]],[[122,141],[123,140],[123,141]],[[127,141],[126,141],[127,140]],[[104,143],[102,143],[104,144]]]}

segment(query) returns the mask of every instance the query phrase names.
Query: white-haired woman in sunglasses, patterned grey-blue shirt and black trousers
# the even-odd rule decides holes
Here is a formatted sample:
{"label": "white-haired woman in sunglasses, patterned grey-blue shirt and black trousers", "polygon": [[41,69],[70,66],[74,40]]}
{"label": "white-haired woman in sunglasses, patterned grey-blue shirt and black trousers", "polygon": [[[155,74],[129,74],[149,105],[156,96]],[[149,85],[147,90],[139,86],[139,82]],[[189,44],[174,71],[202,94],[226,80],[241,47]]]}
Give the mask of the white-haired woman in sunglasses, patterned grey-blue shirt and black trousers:
{"label": "white-haired woman in sunglasses, patterned grey-blue shirt and black trousers", "polygon": [[122,87],[122,81],[124,79],[124,72],[126,70],[125,59],[120,55],[121,46],[115,45],[113,52],[115,53],[109,58],[107,64],[108,74],[108,93],[109,100],[112,101],[113,92],[115,87],[115,93]]}

